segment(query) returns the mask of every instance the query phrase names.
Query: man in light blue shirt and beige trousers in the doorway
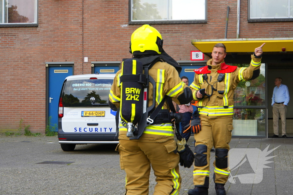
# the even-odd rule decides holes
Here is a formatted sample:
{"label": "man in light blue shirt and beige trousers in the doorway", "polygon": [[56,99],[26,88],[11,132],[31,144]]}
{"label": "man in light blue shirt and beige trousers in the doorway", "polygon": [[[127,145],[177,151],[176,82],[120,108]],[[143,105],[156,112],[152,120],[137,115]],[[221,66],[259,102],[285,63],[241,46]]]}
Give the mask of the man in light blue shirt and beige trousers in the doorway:
{"label": "man in light blue shirt and beige trousers in the doorway", "polygon": [[273,107],[273,123],[274,123],[274,135],[273,138],[279,137],[279,115],[282,121],[282,137],[286,136],[286,113],[289,103],[289,91],[288,87],[282,84],[282,78],[277,77],[275,79],[275,85],[272,96],[272,107]]}

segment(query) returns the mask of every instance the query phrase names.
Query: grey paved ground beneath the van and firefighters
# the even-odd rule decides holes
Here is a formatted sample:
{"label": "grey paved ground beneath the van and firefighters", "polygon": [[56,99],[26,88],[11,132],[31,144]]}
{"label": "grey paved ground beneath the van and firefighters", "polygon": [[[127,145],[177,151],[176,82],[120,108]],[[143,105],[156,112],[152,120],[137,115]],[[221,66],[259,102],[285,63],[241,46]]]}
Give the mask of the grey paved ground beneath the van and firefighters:
{"label": "grey paved ground beneath the van and firefighters", "polygon": [[[73,152],[64,152],[57,141],[57,137],[1,135],[0,194],[124,194],[125,172],[120,170],[119,155],[114,151],[115,144],[77,145]],[[192,141],[190,138],[188,143],[192,145]],[[245,149],[257,148],[264,151],[268,146],[268,151],[279,146],[267,155],[275,156],[268,159],[272,161],[266,164],[270,168],[263,168],[261,172],[258,167],[256,172],[252,168],[253,163],[249,163],[255,161],[251,161],[253,158],[248,152],[246,158],[241,157],[241,162],[245,159],[248,161],[231,171],[233,176],[256,172],[255,180],[261,182],[243,184],[240,177],[236,178],[236,184],[226,183],[227,195],[293,194],[293,139],[232,139],[230,143],[231,149],[242,149],[239,150],[239,155],[246,151]],[[191,149],[194,150],[194,146]],[[211,153],[211,161],[214,161],[214,153]],[[213,170],[211,166],[210,172]],[[188,189],[193,188],[192,172],[191,168],[180,167],[180,195],[187,195]],[[249,178],[244,180],[247,182]],[[154,179],[154,175],[151,174],[150,194],[153,194],[156,184]],[[209,194],[216,194],[212,174]]]}

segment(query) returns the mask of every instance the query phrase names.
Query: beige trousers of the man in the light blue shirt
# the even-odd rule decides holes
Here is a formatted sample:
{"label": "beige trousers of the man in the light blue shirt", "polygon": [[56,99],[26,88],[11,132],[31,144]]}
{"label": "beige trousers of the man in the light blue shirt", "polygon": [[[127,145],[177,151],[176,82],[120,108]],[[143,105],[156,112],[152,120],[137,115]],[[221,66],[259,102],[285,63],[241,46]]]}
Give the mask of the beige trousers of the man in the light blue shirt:
{"label": "beige trousers of the man in the light blue shirt", "polygon": [[274,134],[279,135],[279,116],[281,117],[282,121],[282,136],[286,135],[286,113],[287,107],[284,104],[277,104],[273,105],[273,122],[274,122]]}

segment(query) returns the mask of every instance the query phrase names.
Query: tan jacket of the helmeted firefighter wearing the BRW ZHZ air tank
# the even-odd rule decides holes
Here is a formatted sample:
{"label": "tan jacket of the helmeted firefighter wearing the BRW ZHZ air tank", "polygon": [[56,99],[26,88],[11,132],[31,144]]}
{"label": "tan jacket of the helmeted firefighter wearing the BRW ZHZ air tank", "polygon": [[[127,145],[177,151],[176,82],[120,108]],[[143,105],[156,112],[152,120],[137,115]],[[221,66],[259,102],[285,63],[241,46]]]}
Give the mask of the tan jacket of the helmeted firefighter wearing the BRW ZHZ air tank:
{"label": "tan jacket of the helmeted firefighter wearing the BRW ZHZ air tank", "polygon": [[[157,62],[151,69],[149,69],[149,75],[156,82],[156,106],[161,102],[165,95],[170,96],[172,100],[177,104],[186,104],[191,101],[191,92],[188,94],[185,92],[188,86],[181,82],[177,70],[166,62]],[[120,96],[121,96],[121,83],[120,83],[121,69],[116,73],[113,81],[113,85],[110,90],[109,100],[116,108],[120,108]],[[149,85],[149,106],[153,102],[153,87]],[[186,89],[185,89],[186,88]],[[184,90],[185,89],[185,90]],[[188,97],[189,96],[189,97]],[[179,97],[179,100],[178,100]],[[186,102],[188,101],[189,102]],[[165,102],[162,109],[169,109],[168,104]],[[123,109],[120,109],[123,111]],[[119,139],[127,139],[127,129],[120,124]],[[151,141],[151,142],[164,142],[169,139],[174,139],[173,127],[171,123],[149,125],[145,128],[139,141]],[[134,140],[135,141],[135,140]],[[138,140],[136,140],[138,141]]]}

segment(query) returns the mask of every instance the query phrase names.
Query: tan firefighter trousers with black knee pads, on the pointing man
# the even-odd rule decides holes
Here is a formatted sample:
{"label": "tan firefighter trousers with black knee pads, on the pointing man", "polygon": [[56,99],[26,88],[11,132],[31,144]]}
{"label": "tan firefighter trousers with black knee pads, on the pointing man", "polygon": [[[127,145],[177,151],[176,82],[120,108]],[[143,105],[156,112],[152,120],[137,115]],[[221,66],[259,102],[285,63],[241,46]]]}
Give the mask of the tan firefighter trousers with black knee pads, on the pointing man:
{"label": "tan firefighter trousers with black knee pads, on the pointing man", "polygon": [[[225,184],[229,177],[228,151],[233,130],[233,119],[209,118],[200,115],[202,130],[194,134],[195,161],[193,183],[195,187],[209,187],[209,175],[216,184]],[[210,151],[215,148],[214,171],[209,172]]]}

